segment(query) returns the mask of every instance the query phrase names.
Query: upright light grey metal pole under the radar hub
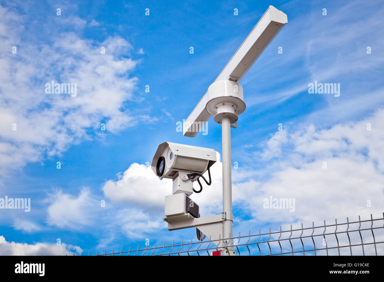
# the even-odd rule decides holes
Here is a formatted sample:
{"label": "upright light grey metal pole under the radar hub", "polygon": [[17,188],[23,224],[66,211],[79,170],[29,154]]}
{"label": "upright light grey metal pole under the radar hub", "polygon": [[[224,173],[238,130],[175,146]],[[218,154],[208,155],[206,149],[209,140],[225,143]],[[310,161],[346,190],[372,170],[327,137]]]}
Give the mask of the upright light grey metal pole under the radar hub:
{"label": "upright light grey metal pole under the radar hub", "polygon": [[[232,225],[232,163],[231,163],[231,122],[229,117],[222,119],[222,145],[223,145],[223,238],[233,237]],[[233,246],[232,239],[228,246]]]}

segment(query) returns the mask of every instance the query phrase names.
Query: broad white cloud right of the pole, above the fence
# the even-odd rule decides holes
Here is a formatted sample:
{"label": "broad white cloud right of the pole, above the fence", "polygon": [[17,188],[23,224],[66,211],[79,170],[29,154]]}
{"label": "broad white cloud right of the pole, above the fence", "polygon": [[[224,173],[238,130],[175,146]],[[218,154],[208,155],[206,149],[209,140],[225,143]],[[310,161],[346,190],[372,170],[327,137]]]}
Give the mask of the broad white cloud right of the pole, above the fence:
{"label": "broad white cloud right of the pole, above the fence", "polygon": [[[330,129],[316,130],[308,125],[284,139],[276,137],[281,135],[277,132],[257,156],[257,161],[275,157],[275,171],[260,185],[252,181],[234,185],[233,193],[242,194],[248,210],[262,222],[346,221],[347,216],[368,218],[371,213],[380,217],[384,202],[383,120],[384,109],[380,109],[359,122]],[[367,130],[368,123],[371,130]],[[281,147],[286,151],[276,155],[281,152],[276,148]],[[254,187],[248,195],[243,193],[245,186]],[[263,199],[270,196],[295,198],[295,212],[264,209]]]}

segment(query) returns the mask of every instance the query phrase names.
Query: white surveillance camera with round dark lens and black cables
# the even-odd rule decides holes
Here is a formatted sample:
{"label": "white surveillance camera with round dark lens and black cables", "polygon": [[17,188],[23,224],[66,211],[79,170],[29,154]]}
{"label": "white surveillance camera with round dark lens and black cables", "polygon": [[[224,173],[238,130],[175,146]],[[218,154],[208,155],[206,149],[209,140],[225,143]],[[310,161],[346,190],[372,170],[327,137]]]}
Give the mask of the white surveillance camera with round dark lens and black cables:
{"label": "white surveillance camera with round dark lens and black cables", "polygon": [[[216,162],[216,151],[177,143],[164,142],[159,145],[152,160],[152,170],[160,178],[172,178],[173,194],[201,192],[199,177]],[[210,173],[209,173],[210,178]],[[197,180],[200,191],[193,189],[192,182]],[[205,180],[208,184],[208,181]],[[210,181],[209,181],[210,185]]]}

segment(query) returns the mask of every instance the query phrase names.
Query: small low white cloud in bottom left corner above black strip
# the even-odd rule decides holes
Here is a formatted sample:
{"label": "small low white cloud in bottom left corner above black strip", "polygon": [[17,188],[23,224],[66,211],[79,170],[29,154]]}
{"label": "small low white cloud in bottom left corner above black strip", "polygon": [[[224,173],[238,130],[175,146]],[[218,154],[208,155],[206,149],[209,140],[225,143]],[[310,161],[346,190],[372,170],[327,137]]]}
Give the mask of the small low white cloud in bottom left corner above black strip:
{"label": "small low white cloud in bottom left corner above black strip", "polygon": [[8,242],[4,236],[0,236],[0,255],[2,256],[70,256],[74,249],[80,254],[83,250],[78,246],[61,243],[60,246],[47,243],[36,243],[34,245],[27,243]]}

